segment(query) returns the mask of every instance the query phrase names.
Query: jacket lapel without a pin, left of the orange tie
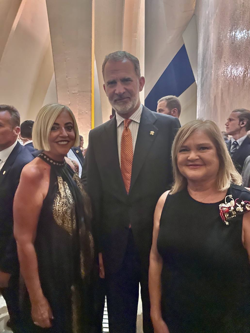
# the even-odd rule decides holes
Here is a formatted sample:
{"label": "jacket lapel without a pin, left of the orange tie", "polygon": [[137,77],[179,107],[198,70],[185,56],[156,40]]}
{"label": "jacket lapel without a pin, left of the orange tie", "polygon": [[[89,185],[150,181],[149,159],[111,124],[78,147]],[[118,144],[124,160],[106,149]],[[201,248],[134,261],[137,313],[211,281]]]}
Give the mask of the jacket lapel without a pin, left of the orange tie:
{"label": "jacket lapel without a pin, left of the orange tie", "polygon": [[127,196],[119,163],[116,117],[113,117],[109,122],[106,123],[105,131],[105,145],[109,150],[108,156],[112,170],[112,179],[115,179],[117,188],[121,189],[122,194]]}

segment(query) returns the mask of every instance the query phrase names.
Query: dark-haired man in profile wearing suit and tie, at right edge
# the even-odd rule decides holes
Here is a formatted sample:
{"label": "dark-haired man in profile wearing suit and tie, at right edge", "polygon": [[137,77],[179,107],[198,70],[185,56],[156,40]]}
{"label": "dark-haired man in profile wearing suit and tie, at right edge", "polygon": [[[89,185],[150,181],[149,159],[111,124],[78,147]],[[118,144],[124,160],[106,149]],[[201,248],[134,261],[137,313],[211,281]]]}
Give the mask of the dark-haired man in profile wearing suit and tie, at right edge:
{"label": "dark-haired man in profile wearing suit and tie, at right edge", "polygon": [[241,173],[245,159],[250,155],[250,138],[247,132],[250,130],[250,111],[236,109],[232,111],[225,124],[226,132],[232,136],[226,141],[232,161]]}

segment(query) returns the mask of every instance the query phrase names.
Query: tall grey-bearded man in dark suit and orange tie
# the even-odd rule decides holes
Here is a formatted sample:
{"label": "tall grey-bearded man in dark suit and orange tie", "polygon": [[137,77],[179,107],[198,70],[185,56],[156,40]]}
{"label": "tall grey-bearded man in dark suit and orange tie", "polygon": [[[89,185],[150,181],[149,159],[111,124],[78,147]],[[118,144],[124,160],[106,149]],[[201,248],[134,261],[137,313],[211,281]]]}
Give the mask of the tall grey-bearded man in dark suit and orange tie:
{"label": "tall grey-bearded man in dark suit and orange tie", "polygon": [[103,78],[116,115],[90,131],[85,160],[109,331],[136,332],[140,282],[143,330],[153,333],[148,293],[153,214],[172,182],[171,146],[180,123],[141,105],[145,79],[131,54],[106,56]]}

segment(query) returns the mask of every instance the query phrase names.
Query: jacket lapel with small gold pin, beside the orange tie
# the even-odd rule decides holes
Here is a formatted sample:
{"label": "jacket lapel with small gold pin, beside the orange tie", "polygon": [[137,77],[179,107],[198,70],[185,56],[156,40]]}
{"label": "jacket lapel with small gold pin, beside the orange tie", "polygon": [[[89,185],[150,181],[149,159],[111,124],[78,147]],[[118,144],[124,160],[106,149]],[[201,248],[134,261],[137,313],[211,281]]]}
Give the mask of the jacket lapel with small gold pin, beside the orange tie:
{"label": "jacket lapel with small gold pin, beside the orange tie", "polygon": [[147,109],[143,107],[133,157],[129,192],[131,192],[148,152],[157,137],[158,128],[154,125],[156,120],[157,118],[154,114],[148,112]]}

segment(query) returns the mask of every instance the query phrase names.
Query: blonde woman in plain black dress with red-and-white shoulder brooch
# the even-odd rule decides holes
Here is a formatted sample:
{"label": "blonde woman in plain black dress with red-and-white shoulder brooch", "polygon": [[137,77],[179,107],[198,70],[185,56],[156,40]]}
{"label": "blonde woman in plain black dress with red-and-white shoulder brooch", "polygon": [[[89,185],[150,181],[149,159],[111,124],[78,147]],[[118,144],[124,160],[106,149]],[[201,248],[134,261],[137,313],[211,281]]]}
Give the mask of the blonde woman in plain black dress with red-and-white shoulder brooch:
{"label": "blonde woman in plain black dress with red-and-white shoulder brooch", "polygon": [[211,120],[179,129],[172,162],[154,214],[154,332],[250,332],[250,191]]}

